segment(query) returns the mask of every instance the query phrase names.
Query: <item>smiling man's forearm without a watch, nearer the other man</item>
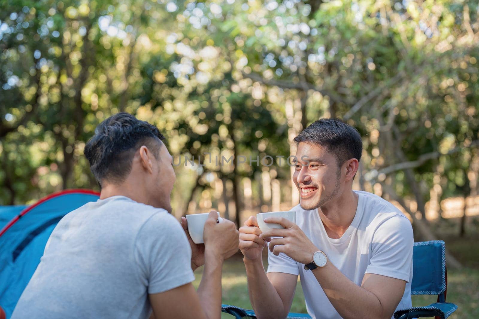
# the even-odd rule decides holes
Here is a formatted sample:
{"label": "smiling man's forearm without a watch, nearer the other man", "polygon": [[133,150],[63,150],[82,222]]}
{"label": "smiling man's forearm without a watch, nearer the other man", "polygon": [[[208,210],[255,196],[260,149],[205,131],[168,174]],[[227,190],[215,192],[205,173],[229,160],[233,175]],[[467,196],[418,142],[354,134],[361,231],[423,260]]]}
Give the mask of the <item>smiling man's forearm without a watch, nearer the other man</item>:
{"label": "smiling man's forearm without a watch, nearer the other man", "polygon": [[266,276],[262,258],[255,261],[244,258],[244,264],[251,306],[253,306],[256,317],[285,318],[288,310],[285,310],[283,300]]}

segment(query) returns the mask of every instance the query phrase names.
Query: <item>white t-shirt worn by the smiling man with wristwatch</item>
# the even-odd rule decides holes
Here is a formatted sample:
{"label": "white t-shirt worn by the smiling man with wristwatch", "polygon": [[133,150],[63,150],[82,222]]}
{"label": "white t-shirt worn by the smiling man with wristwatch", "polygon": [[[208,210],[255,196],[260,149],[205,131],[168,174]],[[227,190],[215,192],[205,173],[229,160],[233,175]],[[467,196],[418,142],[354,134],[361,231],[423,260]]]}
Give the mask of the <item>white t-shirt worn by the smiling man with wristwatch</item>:
{"label": "white t-shirt worn by the smiling man with wristwatch", "polygon": [[[328,237],[317,209],[304,210],[299,205],[296,223],[308,238],[328,256],[343,275],[361,286],[365,274],[384,275],[407,281],[396,310],[411,307],[412,236],[411,222],[388,201],[371,193],[359,195],[353,222],[339,239]],[[312,260],[312,256],[311,256]],[[284,253],[275,256],[268,251],[268,273],[299,275],[306,308],[313,318],[341,318],[322,290],[314,274],[304,270]]]}

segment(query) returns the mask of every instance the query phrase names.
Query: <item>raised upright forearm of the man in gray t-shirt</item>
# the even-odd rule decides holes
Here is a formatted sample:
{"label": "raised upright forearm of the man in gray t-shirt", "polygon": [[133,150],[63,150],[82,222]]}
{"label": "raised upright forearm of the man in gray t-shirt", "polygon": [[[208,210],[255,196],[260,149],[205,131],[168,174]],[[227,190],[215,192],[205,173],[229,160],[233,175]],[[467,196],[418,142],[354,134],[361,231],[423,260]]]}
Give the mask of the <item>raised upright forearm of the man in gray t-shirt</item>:
{"label": "raised upright forearm of the man in gray t-shirt", "polygon": [[221,317],[221,271],[223,259],[219,254],[205,252],[205,267],[198,287],[200,303],[206,318]]}

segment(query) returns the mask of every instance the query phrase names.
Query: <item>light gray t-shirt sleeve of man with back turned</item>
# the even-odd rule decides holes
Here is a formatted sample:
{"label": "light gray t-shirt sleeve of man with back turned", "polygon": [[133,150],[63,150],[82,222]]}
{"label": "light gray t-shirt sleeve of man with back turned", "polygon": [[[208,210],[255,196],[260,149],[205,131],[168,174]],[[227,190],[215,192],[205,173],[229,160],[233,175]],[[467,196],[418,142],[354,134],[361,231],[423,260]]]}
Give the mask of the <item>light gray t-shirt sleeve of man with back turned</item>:
{"label": "light gray t-shirt sleeve of man with back turned", "polygon": [[181,224],[166,211],[151,216],[138,232],[135,259],[148,294],[194,281],[191,247]]}

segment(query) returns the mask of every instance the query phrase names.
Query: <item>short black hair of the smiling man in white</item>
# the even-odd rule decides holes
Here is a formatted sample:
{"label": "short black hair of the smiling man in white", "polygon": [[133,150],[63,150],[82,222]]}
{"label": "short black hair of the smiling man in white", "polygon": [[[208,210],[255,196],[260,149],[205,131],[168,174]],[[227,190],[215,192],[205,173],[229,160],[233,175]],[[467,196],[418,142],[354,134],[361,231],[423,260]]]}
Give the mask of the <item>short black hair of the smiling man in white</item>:
{"label": "short black hair of the smiling man in white", "polygon": [[321,119],[304,129],[293,141],[317,144],[336,156],[338,166],[355,158],[361,160],[363,141],[359,132],[339,119]]}

